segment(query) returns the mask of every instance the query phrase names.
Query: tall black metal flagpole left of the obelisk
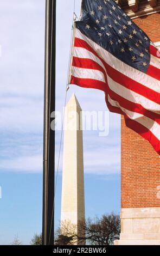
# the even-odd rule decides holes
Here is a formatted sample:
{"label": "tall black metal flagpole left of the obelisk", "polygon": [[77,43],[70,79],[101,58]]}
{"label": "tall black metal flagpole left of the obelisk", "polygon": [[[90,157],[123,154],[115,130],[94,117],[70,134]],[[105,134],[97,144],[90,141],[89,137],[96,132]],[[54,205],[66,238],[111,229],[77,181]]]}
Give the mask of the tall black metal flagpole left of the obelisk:
{"label": "tall black metal flagpole left of the obelisk", "polygon": [[46,0],[44,74],[43,223],[42,244],[54,244],[55,131],[50,115],[55,111],[56,0]]}

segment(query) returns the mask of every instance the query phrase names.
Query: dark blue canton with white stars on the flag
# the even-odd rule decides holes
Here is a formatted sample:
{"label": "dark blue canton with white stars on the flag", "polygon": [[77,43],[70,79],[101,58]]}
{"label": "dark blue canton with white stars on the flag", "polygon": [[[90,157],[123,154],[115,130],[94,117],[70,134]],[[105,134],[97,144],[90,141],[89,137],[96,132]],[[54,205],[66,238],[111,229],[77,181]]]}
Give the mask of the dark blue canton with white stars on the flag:
{"label": "dark blue canton with white stars on the flag", "polygon": [[82,1],[82,16],[76,27],[126,64],[148,70],[150,39],[113,0]]}

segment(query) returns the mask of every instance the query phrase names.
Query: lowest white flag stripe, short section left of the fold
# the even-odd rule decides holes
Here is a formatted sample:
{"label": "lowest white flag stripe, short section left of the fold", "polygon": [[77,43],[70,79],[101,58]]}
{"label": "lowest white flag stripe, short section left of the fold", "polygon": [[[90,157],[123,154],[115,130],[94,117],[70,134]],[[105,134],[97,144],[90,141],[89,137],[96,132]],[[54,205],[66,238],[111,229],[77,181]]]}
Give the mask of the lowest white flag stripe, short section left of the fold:
{"label": "lowest white flag stripe, short section left of the fold", "polygon": [[78,78],[94,79],[105,83],[103,72],[94,69],[82,69],[72,66],[72,75]]}

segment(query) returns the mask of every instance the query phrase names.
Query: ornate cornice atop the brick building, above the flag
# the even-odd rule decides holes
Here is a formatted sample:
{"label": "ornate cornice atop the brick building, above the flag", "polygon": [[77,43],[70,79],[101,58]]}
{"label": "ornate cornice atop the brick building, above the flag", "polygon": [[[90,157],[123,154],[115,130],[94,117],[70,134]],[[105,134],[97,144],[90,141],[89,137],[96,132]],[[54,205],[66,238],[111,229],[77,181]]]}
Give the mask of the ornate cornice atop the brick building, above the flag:
{"label": "ornate cornice atop the brick building, above the flag", "polygon": [[160,0],[116,0],[132,19],[160,12]]}

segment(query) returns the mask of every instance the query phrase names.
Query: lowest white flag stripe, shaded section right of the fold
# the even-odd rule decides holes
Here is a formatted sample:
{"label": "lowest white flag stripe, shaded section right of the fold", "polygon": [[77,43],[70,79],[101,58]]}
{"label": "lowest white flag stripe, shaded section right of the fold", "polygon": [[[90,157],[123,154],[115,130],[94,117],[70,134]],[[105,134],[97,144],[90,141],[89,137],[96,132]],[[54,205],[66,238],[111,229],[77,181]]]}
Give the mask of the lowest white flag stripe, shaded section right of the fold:
{"label": "lowest white flag stripe, shaded section right of the fold", "polygon": [[153,121],[148,117],[145,117],[145,115],[132,112],[126,108],[121,107],[119,102],[112,100],[109,95],[108,95],[108,101],[113,107],[119,107],[130,119],[135,120],[137,121],[137,123],[146,127],[148,130],[150,130],[153,133],[153,135],[155,135],[157,139],[160,140],[160,125],[156,121]]}

